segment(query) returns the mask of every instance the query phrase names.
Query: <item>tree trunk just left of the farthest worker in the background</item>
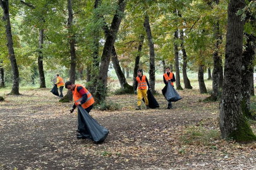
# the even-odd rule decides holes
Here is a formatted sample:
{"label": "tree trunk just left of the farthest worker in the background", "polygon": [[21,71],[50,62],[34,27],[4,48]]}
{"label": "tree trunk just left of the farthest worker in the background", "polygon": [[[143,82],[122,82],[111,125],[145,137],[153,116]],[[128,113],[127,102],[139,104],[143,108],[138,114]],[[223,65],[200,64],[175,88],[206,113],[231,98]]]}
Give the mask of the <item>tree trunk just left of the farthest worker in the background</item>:
{"label": "tree trunk just left of the farthest worker in the background", "polygon": [[38,55],[38,70],[40,78],[40,88],[46,88],[46,79],[44,77],[44,64],[43,64],[43,54],[42,48],[44,44],[44,29],[39,30],[39,55]]}

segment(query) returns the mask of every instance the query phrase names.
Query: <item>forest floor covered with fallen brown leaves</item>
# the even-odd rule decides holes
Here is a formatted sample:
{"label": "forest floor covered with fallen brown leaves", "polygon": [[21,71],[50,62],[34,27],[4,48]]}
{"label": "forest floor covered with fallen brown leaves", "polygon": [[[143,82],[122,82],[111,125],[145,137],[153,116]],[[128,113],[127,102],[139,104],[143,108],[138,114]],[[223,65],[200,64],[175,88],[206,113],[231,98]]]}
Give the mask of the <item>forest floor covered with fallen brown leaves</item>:
{"label": "forest floor covered with fallen brown leaves", "polygon": [[219,102],[197,89],[178,91],[171,110],[162,94],[160,108],[138,111],[135,94],[107,97],[122,108],[90,112],[109,130],[102,144],[76,139],[77,110],[51,89],[9,91],[0,91],[0,169],[256,169],[256,144],[222,140]]}

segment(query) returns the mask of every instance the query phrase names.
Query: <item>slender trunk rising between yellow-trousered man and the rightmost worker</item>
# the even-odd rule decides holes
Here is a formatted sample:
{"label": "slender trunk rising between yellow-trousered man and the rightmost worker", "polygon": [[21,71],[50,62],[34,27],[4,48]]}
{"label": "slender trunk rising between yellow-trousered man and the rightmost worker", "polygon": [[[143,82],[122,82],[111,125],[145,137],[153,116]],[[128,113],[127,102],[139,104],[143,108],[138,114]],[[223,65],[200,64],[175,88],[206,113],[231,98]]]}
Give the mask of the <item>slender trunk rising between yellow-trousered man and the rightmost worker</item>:
{"label": "slender trunk rising between yellow-trousered man and the rightmost worker", "polygon": [[151,34],[151,29],[149,25],[149,16],[145,15],[144,25],[147,33],[147,41],[149,43],[149,84],[151,91],[155,92],[155,50],[154,42]]}

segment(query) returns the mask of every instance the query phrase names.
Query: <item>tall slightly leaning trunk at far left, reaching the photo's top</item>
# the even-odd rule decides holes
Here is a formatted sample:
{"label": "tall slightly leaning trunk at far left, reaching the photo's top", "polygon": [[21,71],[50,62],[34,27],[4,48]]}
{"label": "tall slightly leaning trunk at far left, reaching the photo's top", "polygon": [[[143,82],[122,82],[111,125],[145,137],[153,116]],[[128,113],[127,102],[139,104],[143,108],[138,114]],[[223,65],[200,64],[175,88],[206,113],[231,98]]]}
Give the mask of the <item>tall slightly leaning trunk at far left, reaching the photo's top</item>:
{"label": "tall slightly leaning trunk at far left, reaching the photo's top", "polygon": [[0,1],[1,8],[3,9],[3,20],[6,21],[5,32],[7,38],[7,47],[9,52],[9,60],[11,62],[11,70],[13,71],[13,87],[11,88],[10,94],[20,94],[19,93],[19,71],[18,65],[16,63],[15,51],[13,49],[13,35],[11,34],[11,23],[9,21],[9,1],[1,0]]}

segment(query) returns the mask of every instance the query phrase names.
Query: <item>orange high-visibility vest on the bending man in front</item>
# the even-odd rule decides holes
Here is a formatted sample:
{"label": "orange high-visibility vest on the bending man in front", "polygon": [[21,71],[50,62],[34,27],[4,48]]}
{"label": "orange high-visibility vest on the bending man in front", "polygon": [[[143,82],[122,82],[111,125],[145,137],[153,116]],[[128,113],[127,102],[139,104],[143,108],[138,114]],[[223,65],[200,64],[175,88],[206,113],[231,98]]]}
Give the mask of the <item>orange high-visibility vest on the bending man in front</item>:
{"label": "orange high-visibility vest on the bending man in front", "polygon": [[76,106],[83,99],[83,96],[77,91],[77,87],[79,86],[82,87],[85,90],[85,93],[87,94],[87,100],[82,105],[82,107],[86,109],[88,108],[88,106],[94,104],[94,98],[92,97],[92,94],[90,94],[90,92],[87,89],[85,89],[85,87],[83,87],[81,84],[76,84],[75,90],[73,91],[73,98],[75,100]]}

